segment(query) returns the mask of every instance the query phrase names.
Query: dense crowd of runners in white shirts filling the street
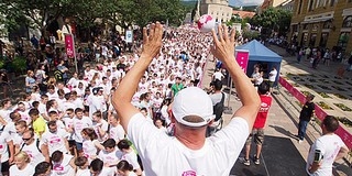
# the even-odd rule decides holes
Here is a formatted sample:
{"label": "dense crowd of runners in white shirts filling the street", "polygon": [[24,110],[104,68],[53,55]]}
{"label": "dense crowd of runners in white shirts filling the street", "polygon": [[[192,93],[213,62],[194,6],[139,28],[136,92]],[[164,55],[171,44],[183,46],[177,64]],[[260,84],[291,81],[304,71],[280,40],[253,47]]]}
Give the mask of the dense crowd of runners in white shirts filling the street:
{"label": "dense crowd of runners in white shirts filling the street", "polygon": [[[157,129],[170,133],[168,106],[179,90],[199,86],[211,43],[210,35],[190,26],[164,33],[163,47],[132,99]],[[142,174],[138,153],[111,105],[114,90],[140,58],[140,51],[122,54],[111,47],[106,53],[105,47],[96,42],[92,52],[98,63],[86,62],[84,70],[72,77],[67,76],[69,59],[57,50],[56,64],[45,57],[28,70],[20,101],[1,102],[0,156],[2,166],[10,166],[11,176]]]}

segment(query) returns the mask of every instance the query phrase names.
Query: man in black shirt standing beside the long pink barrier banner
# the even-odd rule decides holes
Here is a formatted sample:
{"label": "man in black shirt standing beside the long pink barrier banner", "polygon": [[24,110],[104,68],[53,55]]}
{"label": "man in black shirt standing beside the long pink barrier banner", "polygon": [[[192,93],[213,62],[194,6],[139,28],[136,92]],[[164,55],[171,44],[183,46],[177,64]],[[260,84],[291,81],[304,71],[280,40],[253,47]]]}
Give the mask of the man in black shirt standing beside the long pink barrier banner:
{"label": "man in black shirt standing beside the long pink barrier banner", "polygon": [[307,96],[307,101],[304,105],[300,114],[299,114],[299,123],[298,123],[298,142],[302,142],[306,135],[307,125],[310,121],[310,118],[315,113],[315,103],[312,102],[312,99],[315,98],[314,95]]}

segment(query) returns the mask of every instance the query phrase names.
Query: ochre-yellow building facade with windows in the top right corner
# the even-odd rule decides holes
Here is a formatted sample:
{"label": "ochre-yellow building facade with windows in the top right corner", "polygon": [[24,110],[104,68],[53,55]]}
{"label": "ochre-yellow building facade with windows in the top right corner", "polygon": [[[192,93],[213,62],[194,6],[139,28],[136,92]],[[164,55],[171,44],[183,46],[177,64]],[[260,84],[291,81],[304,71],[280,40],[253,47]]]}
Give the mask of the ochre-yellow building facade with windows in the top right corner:
{"label": "ochre-yellow building facade with windows in the top right corner", "polygon": [[352,51],[352,0],[295,0],[289,42]]}

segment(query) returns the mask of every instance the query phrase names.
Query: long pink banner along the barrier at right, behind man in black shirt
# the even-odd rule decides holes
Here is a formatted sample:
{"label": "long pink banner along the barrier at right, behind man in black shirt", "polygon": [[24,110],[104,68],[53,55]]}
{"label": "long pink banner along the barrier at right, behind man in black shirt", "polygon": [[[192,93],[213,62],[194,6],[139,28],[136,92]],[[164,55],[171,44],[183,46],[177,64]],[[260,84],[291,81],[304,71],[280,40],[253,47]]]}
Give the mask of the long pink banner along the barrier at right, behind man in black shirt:
{"label": "long pink banner along the barrier at right, behind man in black shirt", "polygon": [[[289,92],[292,94],[300,103],[306,102],[306,96],[300,92],[298,89],[296,89],[292,84],[289,84],[286,79],[283,77],[278,78],[278,82]],[[323,118],[327,117],[327,112],[323,111],[319,106],[316,105],[316,110],[315,110],[316,117],[322,121]],[[339,129],[334,132],[338,134],[342,141],[345,143],[345,145],[349,148],[352,148],[352,134],[346,131],[342,125],[339,127]]]}

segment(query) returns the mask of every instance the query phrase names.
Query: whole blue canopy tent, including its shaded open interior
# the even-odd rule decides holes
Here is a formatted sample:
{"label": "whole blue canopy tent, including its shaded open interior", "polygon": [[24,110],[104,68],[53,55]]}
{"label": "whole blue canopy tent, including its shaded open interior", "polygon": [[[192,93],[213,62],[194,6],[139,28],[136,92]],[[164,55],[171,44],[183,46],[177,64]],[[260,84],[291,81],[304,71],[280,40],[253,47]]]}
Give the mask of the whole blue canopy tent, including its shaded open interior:
{"label": "whole blue canopy tent, including its shaded open interior", "polygon": [[250,51],[250,61],[246,67],[246,75],[251,77],[254,65],[260,64],[261,70],[264,72],[264,78],[268,77],[268,73],[275,66],[277,70],[277,76],[274,86],[277,85],[278,76],[279,76],[279,68],[282,64],[282,56],[277,55],[270,48],[265,47],[263,44],[257,42],[256,40],[251,41],[241,46],[237,46],[237,50],[248,50]]}

